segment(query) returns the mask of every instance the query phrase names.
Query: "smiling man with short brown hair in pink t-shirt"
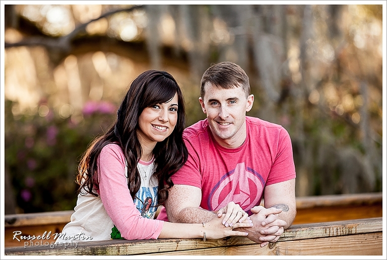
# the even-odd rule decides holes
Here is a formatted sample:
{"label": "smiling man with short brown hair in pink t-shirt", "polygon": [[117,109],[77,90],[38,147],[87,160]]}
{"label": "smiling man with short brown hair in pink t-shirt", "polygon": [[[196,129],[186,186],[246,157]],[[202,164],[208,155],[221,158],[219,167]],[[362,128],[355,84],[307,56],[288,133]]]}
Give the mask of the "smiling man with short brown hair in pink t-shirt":
{"label": "smiling man with short brown hair in pink t-shirt", "polygon": [[[296,172],[288,132],[246,116],[254,96],[247,74],[235,63],[208,68],[200,95],[207,119],[184,130],[189,156],[172,176],[174,186],[165,204],[169,221],[207,222],[233,201],[250,215],[253,226],[240,228],[250,240],[261,247],[276,242],[296,215]],[[259,206],[262,198],[265,207]]]}

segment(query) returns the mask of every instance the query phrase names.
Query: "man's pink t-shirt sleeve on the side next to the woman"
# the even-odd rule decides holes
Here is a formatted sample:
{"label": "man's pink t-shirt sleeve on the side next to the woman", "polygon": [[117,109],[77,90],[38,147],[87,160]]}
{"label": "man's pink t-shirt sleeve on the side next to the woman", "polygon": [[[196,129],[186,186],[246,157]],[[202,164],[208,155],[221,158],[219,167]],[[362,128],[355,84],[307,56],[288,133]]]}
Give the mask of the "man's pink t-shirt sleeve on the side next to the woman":
{"label": "man's pink t-shirt sleeve on the side next to the woman", "polygon": [[171,179],[173,184],[190,185],[202,189],[199,155],[190,141],[184,138],[184,142],[188,150],[187,161],[172,175]]}

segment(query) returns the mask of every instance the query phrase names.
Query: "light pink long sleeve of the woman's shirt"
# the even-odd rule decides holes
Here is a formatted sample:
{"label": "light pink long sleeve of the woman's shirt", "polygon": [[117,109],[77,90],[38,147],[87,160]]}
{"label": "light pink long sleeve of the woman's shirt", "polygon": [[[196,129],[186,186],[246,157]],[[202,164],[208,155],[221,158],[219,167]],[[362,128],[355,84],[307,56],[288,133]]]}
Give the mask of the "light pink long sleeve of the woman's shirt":
{"label": "light pink long sleeve of the woman's shirt", "polygon": [[126,185],[125,157],[116,144],[103,147],[98,160],[99,195],[107,214],[127,240],[157,239],[163,221],[141,216]]}

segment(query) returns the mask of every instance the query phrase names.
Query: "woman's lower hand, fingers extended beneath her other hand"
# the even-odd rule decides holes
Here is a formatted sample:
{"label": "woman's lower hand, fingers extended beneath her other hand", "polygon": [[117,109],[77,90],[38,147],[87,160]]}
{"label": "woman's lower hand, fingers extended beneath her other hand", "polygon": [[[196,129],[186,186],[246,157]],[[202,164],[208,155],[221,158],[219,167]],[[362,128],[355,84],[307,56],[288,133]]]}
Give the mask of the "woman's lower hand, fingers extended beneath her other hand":
{"label": "woman's lower hand, fingers extended beneath her other hand", "polygon": [[203,232],[206,232],[206,239],[219,239],[226,236],[247,236],[248,232],[236,231],[234,228],[251,226],[252,223],[244,222],[236,223],[234,227],[226,227],[222,224],[220,218],[213,218],[210,222],[203,224]]}

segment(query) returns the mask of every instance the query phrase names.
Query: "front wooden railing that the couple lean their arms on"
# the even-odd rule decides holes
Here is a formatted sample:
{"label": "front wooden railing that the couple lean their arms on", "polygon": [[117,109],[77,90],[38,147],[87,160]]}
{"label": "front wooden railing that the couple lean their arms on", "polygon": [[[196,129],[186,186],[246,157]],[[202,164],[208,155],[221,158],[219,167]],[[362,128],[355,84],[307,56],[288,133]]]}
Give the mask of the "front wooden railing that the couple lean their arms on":
{"label": "front wooden railing that the couple lean their arms on", "polygon": [[[382,218],[292,225],[276,243],[246,237],[105,240],[5,248],[6,255],[382,255]],[[39,243],[39,242],[38,242]]]}

